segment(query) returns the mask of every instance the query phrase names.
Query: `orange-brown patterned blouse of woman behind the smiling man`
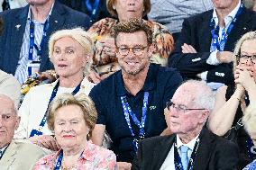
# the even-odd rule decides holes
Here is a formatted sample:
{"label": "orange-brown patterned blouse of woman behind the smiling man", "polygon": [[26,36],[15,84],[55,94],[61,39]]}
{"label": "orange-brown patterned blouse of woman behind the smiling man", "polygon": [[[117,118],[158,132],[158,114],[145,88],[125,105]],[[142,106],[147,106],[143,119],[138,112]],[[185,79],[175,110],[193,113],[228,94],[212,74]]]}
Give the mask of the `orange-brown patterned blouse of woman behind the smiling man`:
{"label": "orange-brown patterned blouse of woman behind the smiling man", "polygon": [[[107,56],[103,52],[104,47],[100,42],[100,40],[114,40],[114,37],[111,36],[111,29],[117,22],[113,18],[105,18],[93,24],[87,31],[96,44],[93,67],[102,77],[109,76],[120,69],[117,58]],[[169,53],[172,51],[174,45],[172,35],[167,27],[158,22],[145,22],[151,26],[153,31],[152,41],[155,50],[151,57],[151,62],[167,66]]]}

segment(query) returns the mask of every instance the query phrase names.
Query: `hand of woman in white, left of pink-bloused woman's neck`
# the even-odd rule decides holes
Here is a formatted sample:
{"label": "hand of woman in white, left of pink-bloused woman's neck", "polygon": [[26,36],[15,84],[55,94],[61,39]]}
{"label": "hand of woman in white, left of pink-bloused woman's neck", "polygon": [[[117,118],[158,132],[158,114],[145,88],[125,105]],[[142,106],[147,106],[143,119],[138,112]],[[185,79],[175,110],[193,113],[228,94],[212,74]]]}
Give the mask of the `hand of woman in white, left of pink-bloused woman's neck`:
{"label": "hand of woman in white, left of pink-bloused woman's neck", "polygon": [[29,138],[29,140],[33,144],[36,144],[36,145],[38,145],[40,147],[43,147],[43,148],[48,148],[48,149],[53,150],[53,151],[57,151],[60,148],[56,139],[54,139],[50,135],[35,136],[35,137]]}

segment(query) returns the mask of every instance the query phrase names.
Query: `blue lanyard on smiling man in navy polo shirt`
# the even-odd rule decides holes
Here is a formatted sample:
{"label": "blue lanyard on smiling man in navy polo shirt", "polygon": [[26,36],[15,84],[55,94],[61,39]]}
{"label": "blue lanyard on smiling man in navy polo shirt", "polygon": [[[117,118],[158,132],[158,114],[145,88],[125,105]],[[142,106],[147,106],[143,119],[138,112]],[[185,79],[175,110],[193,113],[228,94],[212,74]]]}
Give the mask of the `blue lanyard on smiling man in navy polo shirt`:
{"label": "blue lanyard on smiling man in navy polo shirt", "polygon": [[[132,108],[130,107],[129,103],[127,102],[125,95],[121,96],[121,102],[123,105],[123,114],[124,114],[125,121],[127,122],[129,130],[131,131],[131,134],[133,136],[133,148],[135,151],[137,151],[139,140],[145,138],[144,128],[145,128],[145,121],[146,121],[146,117],[147,117],[147,114],[146,114],[147,107],[148,107],[148,103],[149,103],[149,92],[144,92],[143,106],[142,106],[142,122],[140,122],[138,120],[138,118],[136,117],[136,115],[134,114]],[[132,117],[135,125],[137,125],[140,129],[139,139],[135,138],[129,115]]]}

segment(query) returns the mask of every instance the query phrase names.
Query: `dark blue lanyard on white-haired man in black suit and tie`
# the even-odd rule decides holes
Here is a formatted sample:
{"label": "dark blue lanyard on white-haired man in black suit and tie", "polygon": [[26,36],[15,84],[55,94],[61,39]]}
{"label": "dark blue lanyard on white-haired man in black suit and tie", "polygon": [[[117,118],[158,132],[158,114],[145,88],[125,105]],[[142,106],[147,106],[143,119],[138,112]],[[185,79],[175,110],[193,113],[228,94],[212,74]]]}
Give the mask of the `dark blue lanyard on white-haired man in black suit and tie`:
{"label": "dark blue lanyard on white-haired man in black suit and tie", "polygon": [[[188,163],[186,170],[193,170],[193,163],[194,163],[194,159],[197,155],[197,148],[199,146],[200,137],[201,137],[201,134],[199,135],[199,137],[196,141],[195,147],[194,147],[191,157],[189,159],[189,163]],[[185,170],[182,166],[181,158],[179,157],[179,154],[178,154],[177,142],[174,143],[174,165],[175,165],[175,170]]]}

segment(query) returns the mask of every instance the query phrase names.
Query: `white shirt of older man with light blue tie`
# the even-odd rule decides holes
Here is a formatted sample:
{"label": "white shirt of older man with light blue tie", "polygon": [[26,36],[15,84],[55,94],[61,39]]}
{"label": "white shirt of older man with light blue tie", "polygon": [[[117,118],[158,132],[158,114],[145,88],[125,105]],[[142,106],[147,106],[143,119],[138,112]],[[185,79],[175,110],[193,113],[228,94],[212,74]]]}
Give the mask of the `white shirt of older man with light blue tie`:
{"label": "white shirt of older man with light blue tie", "polygon": [[[195,139],[192,139],[191,141],[189,141],[187,144],[183,144],[182,141],[179,139],[178,135],[177,135],[177,148],[178,148],[178,154],[181,154],[180,151],[180,147],[182,145],[186,146],[187,148],[189,148],[187,150],[187,157],[188,160],[191,157],[191,154],[193,152],[193,149],[195,147],[195,144],[197,142],[197,139],[199,137],[199,134],[197,135],[197,137]],[[160,167],[160,170],[175,170],[175,165],[174,165],[174,144],[172,145],[172,147],[169,150],[169,154],[167,155],[167,157],[165,158],[162,166]]]}

